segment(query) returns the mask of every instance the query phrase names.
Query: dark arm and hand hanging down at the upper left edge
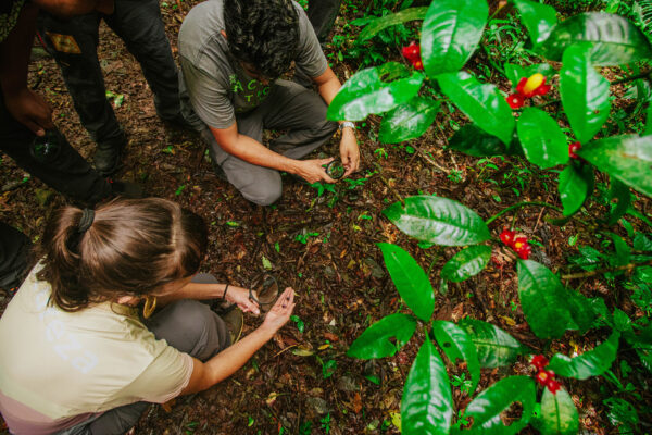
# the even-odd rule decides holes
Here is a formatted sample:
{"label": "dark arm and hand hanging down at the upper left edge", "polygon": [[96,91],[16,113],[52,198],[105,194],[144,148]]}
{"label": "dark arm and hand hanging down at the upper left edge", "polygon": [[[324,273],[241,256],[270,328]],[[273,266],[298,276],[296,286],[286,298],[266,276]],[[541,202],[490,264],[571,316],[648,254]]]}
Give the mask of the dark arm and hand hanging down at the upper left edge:
{"label": "dark arm and hand hanging down at the upper left edge", "polygon": [[27,88],[27,65],[37,14],[36,5],[24,5],[15,27],[0,44],[0,87],[12,116],[42,136],[45,128],[53,126],[52,111],[40,96]]}

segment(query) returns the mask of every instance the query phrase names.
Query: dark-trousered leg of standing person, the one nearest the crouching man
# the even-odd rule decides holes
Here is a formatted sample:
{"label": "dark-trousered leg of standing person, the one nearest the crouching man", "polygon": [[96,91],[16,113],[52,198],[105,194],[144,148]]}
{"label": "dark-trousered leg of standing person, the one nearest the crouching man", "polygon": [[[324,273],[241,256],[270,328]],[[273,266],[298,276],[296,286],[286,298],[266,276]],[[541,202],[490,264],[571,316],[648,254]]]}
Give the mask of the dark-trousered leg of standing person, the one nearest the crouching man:
{"label": "dark-trousered leg of standing person, the one nearest the crouching man", "polygon": [[179,121],[178,71],[172,57],[158,0],[115,0],[115,12],[104,17],[142,67],[154,92],[161,119]]}

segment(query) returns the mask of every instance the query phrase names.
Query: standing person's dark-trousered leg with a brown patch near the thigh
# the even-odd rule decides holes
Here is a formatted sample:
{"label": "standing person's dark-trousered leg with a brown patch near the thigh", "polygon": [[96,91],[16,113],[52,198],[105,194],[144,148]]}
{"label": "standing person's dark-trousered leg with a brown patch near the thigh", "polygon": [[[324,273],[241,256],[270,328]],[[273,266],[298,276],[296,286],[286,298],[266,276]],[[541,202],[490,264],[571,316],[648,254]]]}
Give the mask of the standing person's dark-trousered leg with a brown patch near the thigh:
{"label": "standing person's dark-trousered leg with a brown patch near the thigh", "polygon": [[99,21],[98,13],[62,20],[41,12],[39,32],[61,67],[82,124],[98,144],[96,166],[103,175],[110,175],[120,165],[126,137],[106,100],[97,53]]}

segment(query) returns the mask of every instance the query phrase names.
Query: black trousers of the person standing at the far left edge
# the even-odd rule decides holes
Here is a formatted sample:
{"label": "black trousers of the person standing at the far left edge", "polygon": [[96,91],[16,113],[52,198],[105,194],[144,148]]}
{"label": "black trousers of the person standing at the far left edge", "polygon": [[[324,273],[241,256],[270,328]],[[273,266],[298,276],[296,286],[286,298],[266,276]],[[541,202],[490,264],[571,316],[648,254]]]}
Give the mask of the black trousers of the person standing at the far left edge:
{"label": "black trousers of the person standing at the far left edge", "polygon": [[[0,91],[0,150],[29,174],[76,201],[95,204],[112,196],[109,182],[66,140],[57,152],[42,159],[34,153],[35,137],[9,113]],[[0,223],[0,288],[10,289],[21,283],[28,247],[26,236]]]}

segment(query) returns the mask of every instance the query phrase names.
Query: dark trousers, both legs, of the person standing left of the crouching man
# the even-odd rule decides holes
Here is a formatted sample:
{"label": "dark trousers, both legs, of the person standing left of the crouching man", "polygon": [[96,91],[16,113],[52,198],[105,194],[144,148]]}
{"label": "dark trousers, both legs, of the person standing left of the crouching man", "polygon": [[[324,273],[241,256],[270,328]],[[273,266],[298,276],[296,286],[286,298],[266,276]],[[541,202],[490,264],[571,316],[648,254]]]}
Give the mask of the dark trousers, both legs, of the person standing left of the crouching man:
{"label": "dark trousers, both legs, of the person standing left of the crouching man", "polygon": [[[97,53],[100,20],[123,39],[140,63],[154,94],[156,112],[164,120],[179,115],[178,71],[165,35],[159,0],[115,0],[115,11],[111,15],[93,12],[70,20],[41,12],[39,32],[61,67],[82,124],[96,142],[118,146],[125,141],[125,136],[106,100]],[[48,33],[74,38],[80,52],[58,51]]]}

